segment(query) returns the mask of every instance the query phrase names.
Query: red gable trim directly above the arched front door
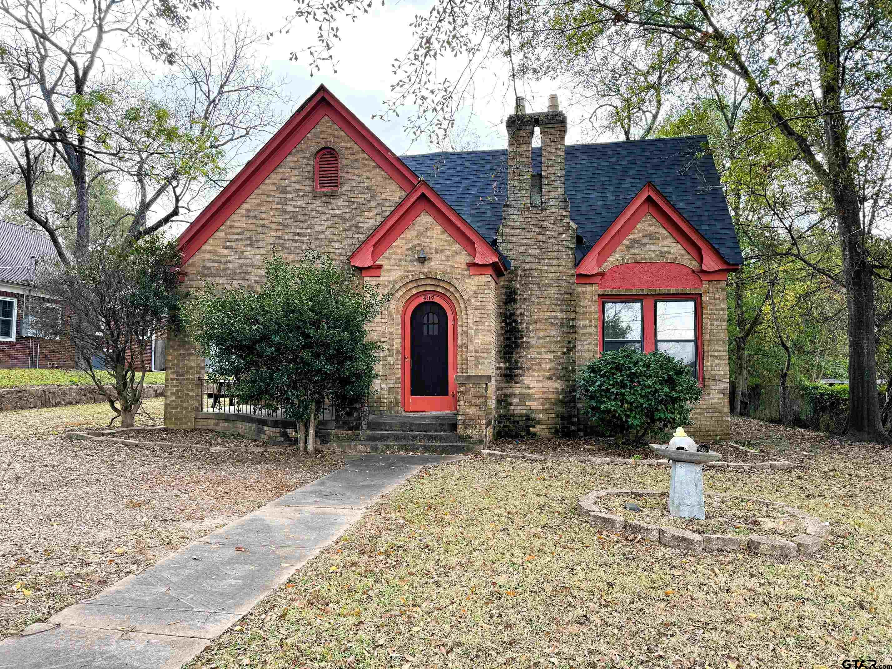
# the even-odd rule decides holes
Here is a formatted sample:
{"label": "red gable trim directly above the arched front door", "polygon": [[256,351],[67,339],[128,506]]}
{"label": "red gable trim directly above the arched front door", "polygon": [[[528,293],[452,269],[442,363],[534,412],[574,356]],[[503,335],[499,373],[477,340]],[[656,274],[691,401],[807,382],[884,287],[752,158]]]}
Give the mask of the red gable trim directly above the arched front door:
{"label": "red gable trim directly above the arched front door", "polygon": [[[403,198],[387,218],[375,228],[366,241],[351,253],[350,264],[356,268],[372,268],[392,244],[400,238],[422,211],[426,211],[470,255],[468,263],[472,275],[490,274],[493,278],[505,274],[505,265],[499,254],[486,242],[474,227],[452,209],[424,179]],[[379,275],[380,276],[380,275]]]}

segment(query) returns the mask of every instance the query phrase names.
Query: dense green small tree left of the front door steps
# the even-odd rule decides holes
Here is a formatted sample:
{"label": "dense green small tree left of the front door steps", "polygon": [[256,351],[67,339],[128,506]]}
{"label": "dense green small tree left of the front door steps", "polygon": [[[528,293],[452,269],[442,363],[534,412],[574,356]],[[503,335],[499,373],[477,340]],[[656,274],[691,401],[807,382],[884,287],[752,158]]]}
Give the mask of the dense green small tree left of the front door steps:
{"label": "dense green small tree left of the front door steps", "polygon": [[311,250],[296,265],[274,253],[266,275],[257,291],[206,283],[186,328],[213,376],[235,380],[235,398],[280,409],[297,422],[301,448],[313,452],[323,403],[349,406],[376,379],[382,347],[367,341],[366,326],[387,298]]}

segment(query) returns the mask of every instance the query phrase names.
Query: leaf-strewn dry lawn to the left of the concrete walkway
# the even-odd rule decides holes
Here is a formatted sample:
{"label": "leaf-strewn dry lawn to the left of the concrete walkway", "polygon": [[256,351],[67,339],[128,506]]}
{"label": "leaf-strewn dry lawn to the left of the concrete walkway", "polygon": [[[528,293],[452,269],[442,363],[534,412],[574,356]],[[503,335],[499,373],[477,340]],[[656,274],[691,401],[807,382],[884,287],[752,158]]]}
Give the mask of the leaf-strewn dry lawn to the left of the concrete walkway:
{"label": "leaf-strewn dry lawn to the left of the concrete walkway", "polygon": [[[149,402],[156,422],[162,402]],[[0,639],[343,465],[57,435],[104,426],[110,413],[103,404],[0,413]]]}

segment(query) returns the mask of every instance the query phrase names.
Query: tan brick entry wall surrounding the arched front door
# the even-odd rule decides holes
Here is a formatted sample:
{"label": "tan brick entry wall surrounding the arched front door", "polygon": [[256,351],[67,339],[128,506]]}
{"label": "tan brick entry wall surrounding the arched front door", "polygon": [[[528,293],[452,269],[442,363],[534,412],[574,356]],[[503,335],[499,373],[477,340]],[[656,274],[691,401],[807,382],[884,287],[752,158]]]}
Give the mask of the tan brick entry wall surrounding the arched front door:
{"label": "tan brick entry wall surrounding the arched front door", "polygon": [[[424,248],[428,260],[418,262]],[[490,276],[470,276],[474,260],[428,213],[422,212],[377,264],[380,277],[366,282],[380,285],[392,299],[370,328],[370,336],[384,344],[378,365],[380,378],[369,399],[373,413],[401,413],[402,312],[412,295],[424,291],[445,294],[458,315],[458,374],[495,374],[496,283]]]}

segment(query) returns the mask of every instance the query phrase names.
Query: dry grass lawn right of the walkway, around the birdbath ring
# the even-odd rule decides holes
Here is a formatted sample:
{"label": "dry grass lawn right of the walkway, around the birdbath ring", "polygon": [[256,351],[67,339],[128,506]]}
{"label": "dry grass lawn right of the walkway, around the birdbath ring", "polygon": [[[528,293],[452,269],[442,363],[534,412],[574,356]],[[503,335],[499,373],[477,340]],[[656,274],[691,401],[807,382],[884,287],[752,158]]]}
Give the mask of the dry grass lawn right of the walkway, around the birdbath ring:
{"label": "dry grass lawn right of the walkway, around the birdbath ring", "polygon": [[711,470],[706,486],[829,520],[814,558],[684,555],[599,534],[574,513],[593,489],[665,489],[668,468],[474,459],[381,500],[188,666],[888,663],[889,450],[791,435],[805,437],[787,444],[808,455],[797,469]]}

